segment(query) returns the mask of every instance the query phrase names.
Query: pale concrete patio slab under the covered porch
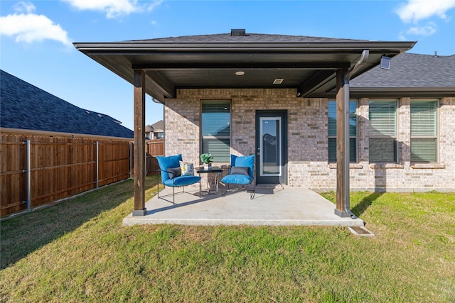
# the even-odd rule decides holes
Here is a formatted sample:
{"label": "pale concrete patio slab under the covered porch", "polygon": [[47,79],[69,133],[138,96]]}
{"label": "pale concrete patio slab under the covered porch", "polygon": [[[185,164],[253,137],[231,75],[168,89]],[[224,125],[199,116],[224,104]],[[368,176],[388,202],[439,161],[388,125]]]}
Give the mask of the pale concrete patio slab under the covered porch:
{"label": "pale concrete patio slab under the covered porch", "polygon": [[[254,226],[364,226],[361,219],[341,218],[334,214],[335,204],[316,192],[295,187],[256,187],[254,199],[247,192],[203,194],[196,188],[176,189],[172,204],[172,188],[160,192],[170,202],[153,197],[146,202],[145,216],[129,214],[127,226],[135,224],[183,225],[254,225]],[[220,189],[221,191],[221,189]]]}

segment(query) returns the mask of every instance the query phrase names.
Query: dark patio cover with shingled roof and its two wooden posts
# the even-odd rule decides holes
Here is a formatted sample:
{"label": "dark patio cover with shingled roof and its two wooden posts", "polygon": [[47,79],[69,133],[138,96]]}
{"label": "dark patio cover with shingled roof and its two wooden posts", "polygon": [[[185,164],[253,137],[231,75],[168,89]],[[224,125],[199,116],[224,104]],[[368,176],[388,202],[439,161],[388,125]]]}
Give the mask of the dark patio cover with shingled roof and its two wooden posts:
{"label": "dark patio cover with shingled roof and its two wooden posts", "polygon": [[[368,50],[368,60],[350,71],[350,79],[378,65],[382,56],[394,57],[410,50],[414,44],[412,41],[264,35],[245,33],[245,30],[114,43],[74,43],[77,50],[134,85],[135,215],[146,211],[145,172],[141,171],[144,167],[145,94],[164,102],[166,98],[176,98],[176,91],[181,88],[295,88],[296,97],[333,97],[336,92],[342,116],[346,105],[343,79],[360,60],[363,51]],[[245,75],[237,76],[237,71]],[[274,84],[274,79],[283,79],[283,82]],[[340,127],[346,125],[344,119],[339,120]],[[337,157],[338,167],[343,167],[340,162],[343,150],[338,153],[341,153]],[[343,169],[346,176],[346,167]],[[340,193],[337,209],[346,213],[346,209],[343,210],[346,205],[338,203],[338,199],[343,198],[346,204],[346,192],[338,189],[339,182],[348,184],[349,178],[337,173],[337,192]]]}

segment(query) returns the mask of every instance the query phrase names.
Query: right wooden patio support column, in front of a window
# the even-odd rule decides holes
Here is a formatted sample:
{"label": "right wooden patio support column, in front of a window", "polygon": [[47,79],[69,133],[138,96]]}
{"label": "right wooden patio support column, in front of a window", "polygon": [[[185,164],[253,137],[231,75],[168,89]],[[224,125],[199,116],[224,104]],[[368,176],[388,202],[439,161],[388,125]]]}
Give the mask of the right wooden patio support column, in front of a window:
{"label": "right wooden patio support column, in front of a window", "polygon": [[[341,217],[349,209],[349,79],[348,70],[336,71],[336,209]],[[347,81],[347,83],[346,83]]]}

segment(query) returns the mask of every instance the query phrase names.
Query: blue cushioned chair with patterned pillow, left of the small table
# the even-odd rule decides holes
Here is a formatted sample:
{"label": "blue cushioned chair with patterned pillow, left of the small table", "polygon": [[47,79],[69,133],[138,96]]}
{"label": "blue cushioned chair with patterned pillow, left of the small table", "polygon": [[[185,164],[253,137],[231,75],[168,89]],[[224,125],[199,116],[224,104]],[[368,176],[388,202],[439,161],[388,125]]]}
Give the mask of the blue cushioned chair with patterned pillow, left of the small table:
{"label": "blue cushioned chair with patterned pillow, left of the small table", "polygon": [[[159,169],[161,171],[161,183],[168,187],[172,187],[172,203],[176,204],[176,187],[183,187],[183,192],[185,192],[185,186],[191,185],[199,182],[199,197],[200,197],[200,177],[198,176],[182,176],[180,171],[180,161],[182,160],[182,155],[171,155],[168,157],[158,156],[156,157],[158,160]],[[158,198],[164,199],[166,196]],[[164,199],[166,200],[166,199]],[[168,201],[168,200],[166,200]],[[170,201],[168,201],[170,202]]]}

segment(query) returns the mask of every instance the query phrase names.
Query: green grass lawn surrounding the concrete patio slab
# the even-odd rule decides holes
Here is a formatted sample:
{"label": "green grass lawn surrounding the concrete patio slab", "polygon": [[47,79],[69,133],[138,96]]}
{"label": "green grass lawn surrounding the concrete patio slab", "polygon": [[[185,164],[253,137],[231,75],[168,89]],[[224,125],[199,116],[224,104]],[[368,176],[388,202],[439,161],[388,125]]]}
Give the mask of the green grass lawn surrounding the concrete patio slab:
{"label": "green grass lawn surrounding the concrete patio slab", "polygon": [[[336,227],[122,226],[132,186],[2,221],[1,302],[455,302],[453,193],[352,193],[376,235],[359,237]],[[149,199],[154,177],[147,188]]]}

